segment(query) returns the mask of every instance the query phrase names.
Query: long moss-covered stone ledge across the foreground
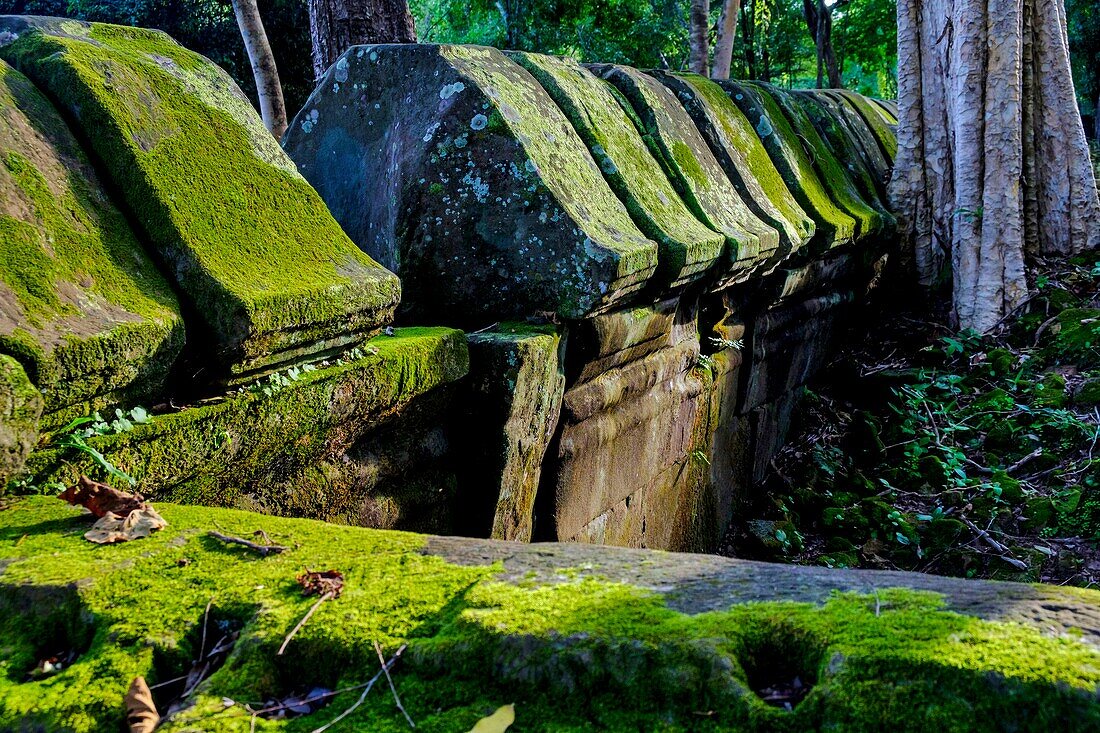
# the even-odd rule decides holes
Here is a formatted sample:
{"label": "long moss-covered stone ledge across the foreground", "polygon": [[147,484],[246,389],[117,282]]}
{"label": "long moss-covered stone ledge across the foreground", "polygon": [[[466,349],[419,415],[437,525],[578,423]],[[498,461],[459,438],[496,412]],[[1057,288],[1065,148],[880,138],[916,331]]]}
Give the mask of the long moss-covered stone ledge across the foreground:
{"label": "long moss-covered stone ledge across the foreground", "polygon": [[[360,683],[377,668],[374,641],[387,653],[408,644],[394,678],[425,731],[466,731],[508,702],[518,731],[1100,725],[1093,592],[160,508],[167,529],[121,546],[85,541],[89,517],[57,500],[0,511],[0,730],[118,727],[133,676],[155,683],[189,669],[208,603],[215,620],[242,625],[240,639],[164,730],[248,731],[242,702]],[[293,549],[261,559],[207,537],[216,523]],[[277,657],[312,601],[294,581],[306,567],[342,570],[344,593]],[[831,593],[846,588],[867,592]],[[773,600],[746,602],[763,597]],[[1043,604],[1067,632],[956,613],[945,599],[988,619]],[[81,654],[26,681],[54,647]],[[816,685],[787,712],[750,691],[772,672]],[[358,697],[256,730],[312,730]],[[407,730],[384,687],[341,726]]]}

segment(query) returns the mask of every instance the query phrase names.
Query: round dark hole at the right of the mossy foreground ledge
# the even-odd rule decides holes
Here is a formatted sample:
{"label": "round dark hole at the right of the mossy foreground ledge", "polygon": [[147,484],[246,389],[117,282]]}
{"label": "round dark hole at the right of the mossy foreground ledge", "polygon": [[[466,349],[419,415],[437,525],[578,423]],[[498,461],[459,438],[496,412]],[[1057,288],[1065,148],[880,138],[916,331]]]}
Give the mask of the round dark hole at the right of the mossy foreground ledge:
{"label": "round dark hole at the right of the mossy foreground ledge", "polygon": [[761,700],[794,710],[817,683],[823,649],[799,630],[773,626],[746,644],[740,661],[749,687]]}

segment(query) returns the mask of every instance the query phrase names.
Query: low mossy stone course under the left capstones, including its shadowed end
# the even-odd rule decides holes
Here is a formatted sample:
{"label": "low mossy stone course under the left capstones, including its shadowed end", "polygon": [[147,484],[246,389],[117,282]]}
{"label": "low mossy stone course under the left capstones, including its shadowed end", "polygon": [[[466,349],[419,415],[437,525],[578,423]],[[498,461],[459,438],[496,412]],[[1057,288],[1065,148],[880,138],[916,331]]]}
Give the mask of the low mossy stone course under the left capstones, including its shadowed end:
{"label": "low mossy stone course under the left capstones, including its shadowed end", "polygon": [[[387,504],[377,494],[392,494],[386,485],[404,479],[414,483],[403,472],[415,473],[417,463],[430,458],[432,441],[426,436],[444,422],[449,405],[437,406],[433,425],[410,418],[397,436],[402,445],[380,444],[372,431],[468,369],[460,331],[397,329],[338,363],[279,372],[212,404],[89,444],[133,475],[142,493],[165,501],[443,529],[449,527],[400,522],[402,507],[394,505],[399,497]],[[392,430],[393,425],[384,433]],[[45,449],[32,456],[26,471],[36,484],[68,485],[80,473],[94,474],[95,464],[84,453]],[[417,491],[426,495],[421,503],[439,499],[422,484]],[[417,492],[410,485],[407,493]],[[438,502],[437,508],[443,507]]]}

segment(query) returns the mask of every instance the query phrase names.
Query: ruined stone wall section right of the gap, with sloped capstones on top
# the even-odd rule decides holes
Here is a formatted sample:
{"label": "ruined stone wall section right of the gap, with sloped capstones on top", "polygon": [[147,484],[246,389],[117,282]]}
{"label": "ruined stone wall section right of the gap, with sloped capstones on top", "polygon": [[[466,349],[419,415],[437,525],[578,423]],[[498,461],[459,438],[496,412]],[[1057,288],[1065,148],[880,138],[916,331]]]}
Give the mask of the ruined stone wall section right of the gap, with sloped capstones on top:
{"label": "ruined stone wall section right of the gap, with sloped capstones on top", "polygon": [[468,534],[706,550],[881,267],[893,122],[840,92],[383,45],[329,69],[284,147],[400,275],[399,320],[476,331]]}

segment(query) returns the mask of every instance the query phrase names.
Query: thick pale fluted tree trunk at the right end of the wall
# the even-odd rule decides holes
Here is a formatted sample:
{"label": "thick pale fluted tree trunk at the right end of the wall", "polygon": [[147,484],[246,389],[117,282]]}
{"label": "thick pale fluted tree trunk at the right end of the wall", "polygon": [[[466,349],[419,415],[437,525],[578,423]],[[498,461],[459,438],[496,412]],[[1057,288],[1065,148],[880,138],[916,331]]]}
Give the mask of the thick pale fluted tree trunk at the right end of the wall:
{"label": "thick pale fluted tree trunk at the right end of the wall", "polygon": [[[890,197],[922,284],[960,328],[1027,297],[1032,254],[1100,245],[1062,0],[902,0]],[[949,263],[949,267],[948,267]]]}

